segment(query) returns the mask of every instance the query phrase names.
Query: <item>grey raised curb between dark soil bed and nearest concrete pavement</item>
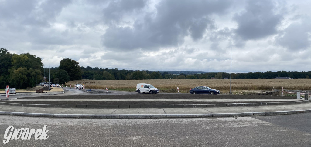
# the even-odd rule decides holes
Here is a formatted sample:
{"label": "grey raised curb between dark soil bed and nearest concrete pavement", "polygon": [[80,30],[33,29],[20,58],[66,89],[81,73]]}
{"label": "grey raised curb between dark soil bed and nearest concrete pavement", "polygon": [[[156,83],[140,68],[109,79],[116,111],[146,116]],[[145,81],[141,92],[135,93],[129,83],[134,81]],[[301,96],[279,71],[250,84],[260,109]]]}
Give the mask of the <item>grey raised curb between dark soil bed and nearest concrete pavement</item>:
{"label": "grey raised curb between dark soil bed and nearest concrete pavement", "polygon": [[204,108],[204,107],[237,107],[237,106],[275,106],[294,105],[309,103],[311,100],[294,102],[271,102],[271,103],[232,103],[232,104],[189,104],[189,105],[49,105],[49,104],[19,104],[0,102],[0,105],[23,106],[23,107],[53,107],[53,108]]}

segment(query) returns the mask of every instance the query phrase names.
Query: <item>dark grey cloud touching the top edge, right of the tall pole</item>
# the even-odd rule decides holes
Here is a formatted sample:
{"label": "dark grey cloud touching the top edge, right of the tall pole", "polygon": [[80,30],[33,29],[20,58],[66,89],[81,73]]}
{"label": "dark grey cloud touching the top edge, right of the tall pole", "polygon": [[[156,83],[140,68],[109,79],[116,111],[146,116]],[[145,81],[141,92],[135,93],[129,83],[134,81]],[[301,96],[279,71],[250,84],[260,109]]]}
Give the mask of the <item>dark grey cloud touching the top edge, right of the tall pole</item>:
{"label": "dark grey cloud touching the top edge, right of the tall pole", "polygon": [[247,2],[245,12],[233,18],[238,23],[235,33],[243,40],[253,40],[277,33],[276,26],[282,16],[274,12],[276,5],[270,0]]}

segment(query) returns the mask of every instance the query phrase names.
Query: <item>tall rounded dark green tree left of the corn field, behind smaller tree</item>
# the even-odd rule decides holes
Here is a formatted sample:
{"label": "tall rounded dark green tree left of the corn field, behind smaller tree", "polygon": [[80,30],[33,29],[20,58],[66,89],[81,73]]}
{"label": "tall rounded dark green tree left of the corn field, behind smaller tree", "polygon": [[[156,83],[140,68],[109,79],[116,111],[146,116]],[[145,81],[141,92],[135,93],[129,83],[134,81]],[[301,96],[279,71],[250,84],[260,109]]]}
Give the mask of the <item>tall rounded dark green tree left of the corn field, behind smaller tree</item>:
{"label": "tall rounded dark green tree left of the corn field, behind smaller tree", "polygon": [[63,59],[59,62],[59,69],[67,71],[70,80],[81,80],[81,68],[79,62],[73,59]]}

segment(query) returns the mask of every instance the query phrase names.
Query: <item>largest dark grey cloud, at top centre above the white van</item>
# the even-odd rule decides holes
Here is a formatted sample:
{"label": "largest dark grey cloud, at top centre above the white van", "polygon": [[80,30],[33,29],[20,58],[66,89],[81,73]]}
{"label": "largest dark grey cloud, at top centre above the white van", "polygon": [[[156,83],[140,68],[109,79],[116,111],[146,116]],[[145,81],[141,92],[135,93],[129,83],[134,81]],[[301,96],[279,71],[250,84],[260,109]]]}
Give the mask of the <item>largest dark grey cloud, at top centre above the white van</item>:
{"label": "largest dark grey cloud, at top centre above the white van", "polygon": [[161,1],[154,14],[143,14],[133,28],[110,26],[102,43],[108,48],[132,50],[178,45],[188,35],[197,40],[206,29],[214,28],[209,16],[222,14],[228,7],[230,1]]}

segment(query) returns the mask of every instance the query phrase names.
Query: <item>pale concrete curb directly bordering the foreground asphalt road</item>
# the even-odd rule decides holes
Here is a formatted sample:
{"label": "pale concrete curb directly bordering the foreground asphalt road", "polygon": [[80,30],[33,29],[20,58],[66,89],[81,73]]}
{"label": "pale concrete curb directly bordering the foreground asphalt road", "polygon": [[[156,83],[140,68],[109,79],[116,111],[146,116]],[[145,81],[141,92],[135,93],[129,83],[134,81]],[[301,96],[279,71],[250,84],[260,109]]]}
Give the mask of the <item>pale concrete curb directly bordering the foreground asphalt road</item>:
{"label": "pale concrete curb directly bordering the foreground asphalt road", "polygon": [[219,114],[41,114],[0,111],[0,115],[16,115],[31,117],[53,118],[211,118],[211,117],[244,117],[244,116],[271,116],[311,112],[307,110],[273,111],[273,112],[247,112],[247,113],[219,113]]}

